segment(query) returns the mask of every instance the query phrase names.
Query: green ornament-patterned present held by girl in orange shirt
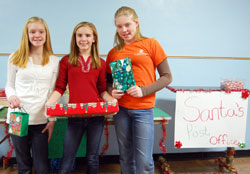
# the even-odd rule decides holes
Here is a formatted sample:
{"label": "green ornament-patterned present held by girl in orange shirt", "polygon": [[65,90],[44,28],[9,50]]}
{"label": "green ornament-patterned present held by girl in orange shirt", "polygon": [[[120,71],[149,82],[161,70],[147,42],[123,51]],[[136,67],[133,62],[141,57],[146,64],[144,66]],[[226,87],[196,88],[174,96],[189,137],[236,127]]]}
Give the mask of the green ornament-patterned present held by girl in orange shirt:
{"label": "green ornament-patterned present held by girl in orange shirt", "polygon": [[109,66],[116,89],[126,91],[130,87],[135,86],[132,64],[129,57],[111,62]]}

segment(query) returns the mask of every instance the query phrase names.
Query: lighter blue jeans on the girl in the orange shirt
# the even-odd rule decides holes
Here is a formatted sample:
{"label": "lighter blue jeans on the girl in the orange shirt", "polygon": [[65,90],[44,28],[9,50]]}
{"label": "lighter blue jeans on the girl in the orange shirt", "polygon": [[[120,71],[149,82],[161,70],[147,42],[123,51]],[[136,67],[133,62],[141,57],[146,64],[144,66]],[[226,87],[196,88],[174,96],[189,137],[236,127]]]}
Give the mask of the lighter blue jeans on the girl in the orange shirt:
{"label": "lighter blue jeans on the girl in the orange shirt", "polygon": [[119,109],[114,122],[122,174],[153,174],[153,109]]}

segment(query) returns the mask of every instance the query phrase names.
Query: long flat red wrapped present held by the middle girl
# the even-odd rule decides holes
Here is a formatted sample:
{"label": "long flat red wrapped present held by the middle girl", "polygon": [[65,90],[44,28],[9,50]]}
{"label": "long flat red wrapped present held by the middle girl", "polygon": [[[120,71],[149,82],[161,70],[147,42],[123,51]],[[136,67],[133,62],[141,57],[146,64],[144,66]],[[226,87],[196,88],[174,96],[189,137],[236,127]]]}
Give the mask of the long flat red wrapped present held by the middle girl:
{"label": "long flat red wrapped present held by the middle girl", "polygon": [[49,117],[94,117],[107,116],[119,111],[118,102],[70,103],[46,106]]}

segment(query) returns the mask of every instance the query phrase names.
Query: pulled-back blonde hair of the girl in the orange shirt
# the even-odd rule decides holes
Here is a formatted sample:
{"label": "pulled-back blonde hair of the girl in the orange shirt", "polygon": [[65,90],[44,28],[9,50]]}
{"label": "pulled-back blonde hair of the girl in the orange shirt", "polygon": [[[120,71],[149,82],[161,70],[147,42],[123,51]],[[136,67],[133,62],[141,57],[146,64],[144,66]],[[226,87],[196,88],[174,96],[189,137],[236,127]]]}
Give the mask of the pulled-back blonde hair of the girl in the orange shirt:
{"label": "pulled-back blonde hair of the girl in the orange shirt", "polygon": [[[131,17],[131,19],[133,21],[138,20],[138,15],[136,14],[135,10],[130,8],[130,7],[126,7],[126,6],[122,6],[120,7],[116,12],[115,12],[115,20],[117,17],[120,16],[127,16],[127,17]],[[116,23],[116,22],[115,22]],[[140,25],[138,24],[137,29],[136,29],[136,34],[135,34],[135,40],[143,40],[146,37],[144,37],[141,34],[140,31]],[[121,50],[125,45],[124,40],[119,36],[118,32],[116,31],[115,33],[115,38],[114,38],[114,46],[116,46],[116,48],[118,50]]]}

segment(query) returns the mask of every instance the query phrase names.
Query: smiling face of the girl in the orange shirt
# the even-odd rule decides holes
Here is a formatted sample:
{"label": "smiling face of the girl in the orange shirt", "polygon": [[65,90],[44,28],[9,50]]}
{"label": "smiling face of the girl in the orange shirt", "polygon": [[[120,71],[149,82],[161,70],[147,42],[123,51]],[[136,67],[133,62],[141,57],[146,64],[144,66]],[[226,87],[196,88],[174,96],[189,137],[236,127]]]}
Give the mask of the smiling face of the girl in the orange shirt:
{"label": "smiling face of the girl in the orange shirt", "polygon": [[131,16],[121,15],[115,18],[116,31],[126,44],[135,41],[138,20],[132,20]]}

